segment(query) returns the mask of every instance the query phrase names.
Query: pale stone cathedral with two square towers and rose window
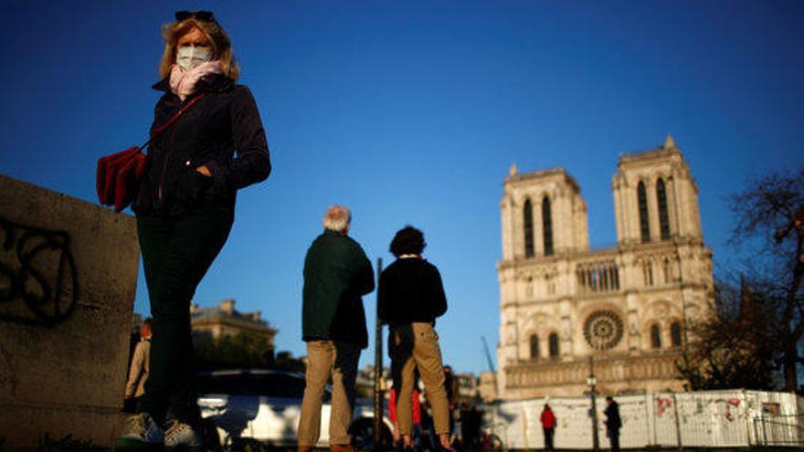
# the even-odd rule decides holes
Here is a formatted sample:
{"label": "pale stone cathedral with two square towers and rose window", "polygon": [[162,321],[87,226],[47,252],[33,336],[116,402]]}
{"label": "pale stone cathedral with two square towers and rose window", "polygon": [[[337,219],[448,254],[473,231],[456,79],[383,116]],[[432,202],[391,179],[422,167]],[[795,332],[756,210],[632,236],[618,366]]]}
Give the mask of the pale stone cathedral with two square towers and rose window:
{"label": "pale stone cathedral with two square towers and rose window", "polygon": [[587,204],[564,169],[514,165],[505,178],[501,398],[583,394],[590,356],[602,394],[682,389],[687,325],[713,296],[697,185],[668,135],[621,155],[611,189],[617,246],[592,249]]}

